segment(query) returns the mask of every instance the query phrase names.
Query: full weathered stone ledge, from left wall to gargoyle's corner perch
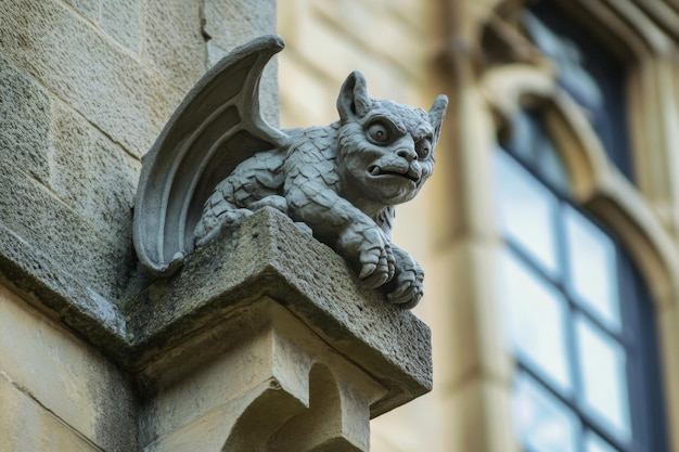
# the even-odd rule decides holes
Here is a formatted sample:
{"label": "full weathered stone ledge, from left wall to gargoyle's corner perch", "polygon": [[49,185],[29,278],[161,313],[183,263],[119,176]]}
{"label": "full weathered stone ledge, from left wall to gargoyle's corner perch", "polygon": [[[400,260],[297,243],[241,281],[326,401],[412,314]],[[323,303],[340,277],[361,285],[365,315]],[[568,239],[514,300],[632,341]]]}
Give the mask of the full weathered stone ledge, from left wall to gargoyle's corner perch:
{"label": "full weathered stone ledge, from left wall to gargoyle's corner perch", "polygon": [[[432,388],[430,328],[364,289],[331,248],[286,216],[262,209],[226,237],[189,255],[184,267],[126,301],[125,312],[0,227],[0,272],[124,369],[154,362],[206,332],[223,331],[262,298],[273,299],[328,345],[387,388],[374,417]],[[320,283],[322,282],[322,283]],[[227,328],[228,330],[228,328]],[[223,334],[208,334],[215,346]],[[228,340],[228,336],[227,336]]]}

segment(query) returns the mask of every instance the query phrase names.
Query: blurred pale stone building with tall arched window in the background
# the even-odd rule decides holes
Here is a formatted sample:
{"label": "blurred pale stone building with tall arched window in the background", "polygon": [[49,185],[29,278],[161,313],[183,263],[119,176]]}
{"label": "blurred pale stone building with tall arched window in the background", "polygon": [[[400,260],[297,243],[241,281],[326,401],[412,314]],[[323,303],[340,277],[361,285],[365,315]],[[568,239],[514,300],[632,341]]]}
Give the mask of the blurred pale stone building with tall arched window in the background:
{"label": "blurred pale stone building with tall arched window in the background", "polygon": [[450,98],[423,263],[435,389],[372,450],[679,451],[679,2],[280,0],[281,122],[344,77]]}

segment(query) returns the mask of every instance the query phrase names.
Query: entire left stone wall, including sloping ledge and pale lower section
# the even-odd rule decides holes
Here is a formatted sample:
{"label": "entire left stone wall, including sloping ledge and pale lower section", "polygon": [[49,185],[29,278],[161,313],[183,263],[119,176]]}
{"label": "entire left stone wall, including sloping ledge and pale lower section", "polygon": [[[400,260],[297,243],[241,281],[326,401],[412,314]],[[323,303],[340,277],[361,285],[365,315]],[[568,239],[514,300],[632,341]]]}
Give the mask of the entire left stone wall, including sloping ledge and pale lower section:
{"label": "entire left stone wall, including sloping ledge and pale lower section", "polygon": [[[272,0],[0,4],[0,450],[134,450],[133,385],[106,354],[126,341],[141,157],[274,17]],[[276,70],[262,85],[276,122]]]}

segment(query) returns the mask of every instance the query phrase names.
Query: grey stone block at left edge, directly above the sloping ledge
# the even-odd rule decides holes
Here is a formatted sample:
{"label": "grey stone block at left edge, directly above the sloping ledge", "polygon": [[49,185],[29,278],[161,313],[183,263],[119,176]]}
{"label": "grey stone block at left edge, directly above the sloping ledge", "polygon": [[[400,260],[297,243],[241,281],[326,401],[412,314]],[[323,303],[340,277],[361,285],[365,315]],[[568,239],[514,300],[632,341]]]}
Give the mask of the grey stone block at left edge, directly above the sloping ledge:
{"label": "grey stone block at left edge, directly above the sloping ledge", "polygon": [[[78,287],[87,287],[108,300],[120,296],[126,272],[133,259],[130,243],[119,244],[98,231],[43,185],[2,162],[0,186],[5,194],[0,199],[0,223],[16,238],[2,248],[5,256],[33,254],[29,261],[17,260],[14,263],[29,273],[31,261],[42,267],[50,267],[51,263],[53,271],[63,273],[65,277],[71,275]],[[12,249],[16,247],[27,249]],[[33,275],[41,273],[38,271]],[[54,273],[42,276],[47,276],[42,282],[48,284],[62,277]],[[72,302],[77,305],[79,300]]]}

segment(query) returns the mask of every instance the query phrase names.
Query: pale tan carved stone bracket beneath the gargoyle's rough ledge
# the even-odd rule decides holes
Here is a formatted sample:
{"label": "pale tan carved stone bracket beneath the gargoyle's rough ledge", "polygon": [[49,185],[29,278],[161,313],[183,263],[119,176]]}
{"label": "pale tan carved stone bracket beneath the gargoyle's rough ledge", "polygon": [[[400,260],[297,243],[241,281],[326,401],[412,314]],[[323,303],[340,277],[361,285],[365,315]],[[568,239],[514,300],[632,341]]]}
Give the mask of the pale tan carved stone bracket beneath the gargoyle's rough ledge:
{"label": "pale tan carved stone bracket beneath the gargoyle's rough ledge", "polygon": [[144,371],[144,451],[368,451],[385,389],[284,307],[251,300],[203,336]]}

